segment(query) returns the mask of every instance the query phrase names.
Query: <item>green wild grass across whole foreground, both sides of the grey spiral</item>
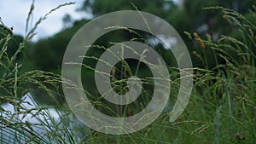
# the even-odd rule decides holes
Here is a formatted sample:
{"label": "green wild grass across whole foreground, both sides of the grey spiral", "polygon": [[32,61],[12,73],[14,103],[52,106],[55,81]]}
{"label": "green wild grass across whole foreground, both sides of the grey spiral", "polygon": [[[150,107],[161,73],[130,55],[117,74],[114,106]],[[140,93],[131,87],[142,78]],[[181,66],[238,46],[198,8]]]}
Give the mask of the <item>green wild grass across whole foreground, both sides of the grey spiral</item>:
{"label": "green wild grass across whole foreground, both sides of the grey spiral", "polygon": [[[184,32],[198,48],[191,53],[191,57],[194,57],[201,66],[193,68],[194,87],[189,104],[175,122],[168,121],[172,106],[167,106],[160,117],[143,130],[127,135],[107,135],[90,130],[73,115],[61,92],[62,80],[59,74],[27,68],[26,64],[29,61],[26,57],[20,56],[36,34],[38,25],[49,14],[69,4],[72,3],[63,4],[45,14],[35,26],[28,26],[32,28],[27,31],[26,37],[21,42],[17,41],[12,28],[0,23],[1,143],[253,144],[256,142],[255,6],[248,15],[223,7],[205,8],[220,12],[223,16],[222,20],[228,21],[230,31],[231,29],[234,31],[232,35],[223,33],[221,37],[215,39],[209,34],[201,36],[196,32]],[[30,18],[31,15],[28,14],[27,25],[30,24]],[[15,52],[9,50],[10,43],[15,43],[17,46]],[[118,73],[124,76],[121,78],[126,77],[125,71],[131,71],[129,66],[124,67],[125,69]],[[173,69],[173,67],[169,68]],[[172,89],[175,90],[179,86],[177,74],[173,73],[171,77],[177,82],[172,83]],[[122,89],[119,88],[122,83],[122,80],[115,79],[113,87]],[[37,91],[40,91],[40,95]],[[37,96],[45,96],[46,101],[58,102],[42,104]],[[96,95],[90,96],[92,100],[96,100],[95,103],[101,102]],[[177,98],[175,94],[171,96],[174,100]],[[143,97],[146,99],[148,93],[143,93]],[[127,112],[140,111],[142,105],[137,103]],[[96,106],[102,111],[111,109],[104,104]]]}

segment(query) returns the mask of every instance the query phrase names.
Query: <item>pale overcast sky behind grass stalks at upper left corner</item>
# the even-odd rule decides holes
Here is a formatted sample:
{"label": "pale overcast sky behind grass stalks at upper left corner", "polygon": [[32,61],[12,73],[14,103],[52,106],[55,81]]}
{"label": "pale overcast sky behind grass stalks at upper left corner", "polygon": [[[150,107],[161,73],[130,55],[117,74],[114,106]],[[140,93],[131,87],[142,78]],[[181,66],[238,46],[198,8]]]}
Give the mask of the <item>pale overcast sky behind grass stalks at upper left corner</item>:
{"label": "pale overcast sky behind grass stalks at upper left corner", "polygon": [[[76,9],[79,9],[83,1],[79,0],[35,0],[35,9],[33,11],[33,23],[35,23],[39,17],[48,13],[50,9],[54,9],[56,6],[62,3],[76,2],[73,5],[62,7],[50,14],[47,20],[44,20],[38,26],[38,34],[33,40],[37,40],[42,37],[49,37],[50,35],[60,32],[63,28],[62,18],[65,14],[70,14],[74,20],[84,18],[84,13],[79,13]],[[32,0],[0,0],[0,17],[6,26],[13,26],[14,32],[22,36],[25,35],[26,17],[30,10]]]}

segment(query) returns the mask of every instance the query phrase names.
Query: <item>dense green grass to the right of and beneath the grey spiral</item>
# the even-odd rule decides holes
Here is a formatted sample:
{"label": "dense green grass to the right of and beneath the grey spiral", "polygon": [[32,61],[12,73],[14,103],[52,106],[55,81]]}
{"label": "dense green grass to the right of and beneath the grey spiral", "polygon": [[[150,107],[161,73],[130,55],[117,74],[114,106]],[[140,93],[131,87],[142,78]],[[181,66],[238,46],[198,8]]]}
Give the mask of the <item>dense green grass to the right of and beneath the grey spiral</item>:
{"label": "dense green grass to the right of and beneath the grey spiral", "polygon": [[[255,7],[253,7],[255,8]],[[256,141],[255,118],[255,19],[231,9],[212,7],[224,13],[224,20],[236,26],[236,37],[213,40],[194,33],[201,51],[194,51],[202,67],[194,68],[195,86],[190,102],[176,122],[168,122],[164,112],[146,129],[129,135],[104,135],[92,131],[86,143],[253,143]],[[256,14],[256,9],[251,14]],[[187,33],[192,39],[192,36]],[[137,38],[134,38],[137,39]],[[208,64],[207,50],[212,51]],[[125,67],[129,69],[129,66]],[[127,70],[128,71],[128,70]],[[121,73],[122,74],[122,73]],[[125,73],[123,73],[125,76]],[[107,106],[105,106],[107,107]],[[84,140],[85,141],[85,140]]]}

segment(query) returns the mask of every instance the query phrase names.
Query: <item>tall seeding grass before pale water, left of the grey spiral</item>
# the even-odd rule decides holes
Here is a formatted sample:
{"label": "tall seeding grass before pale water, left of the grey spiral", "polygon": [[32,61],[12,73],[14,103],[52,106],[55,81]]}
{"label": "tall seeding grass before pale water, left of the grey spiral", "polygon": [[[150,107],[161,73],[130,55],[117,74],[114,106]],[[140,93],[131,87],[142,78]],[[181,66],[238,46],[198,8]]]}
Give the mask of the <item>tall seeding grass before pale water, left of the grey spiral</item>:
{"label": "tall seeding grass before pale water, left of the grey spiral", "polygon": [[[36,35],[38,25],[49,14],[64,3],[49,11],[30,27],[34,3],[26,20],[26,37],[17,44],[14,54],[9,54],[11,41],[15,41],[13,28],[0,23],[0,141],[1,143],[76,143],[82,137],[83,129],[65,106],[43,106],[32,98],[33,91],[40,89],[45,96],[55,101],[61,85],[61,77],[52,72],[26,70],[26,63],[18,60],[32,37]],[[44,96],[44,95],[41,95]],[[44,99],[44,98],[43,98]],[[54,113],[53,113],[54,112]],[[86,128],[84,128],[86,129]],[[85,131],[85,130],[84,130]],[[79,136],[80,135],[80,136]]]}

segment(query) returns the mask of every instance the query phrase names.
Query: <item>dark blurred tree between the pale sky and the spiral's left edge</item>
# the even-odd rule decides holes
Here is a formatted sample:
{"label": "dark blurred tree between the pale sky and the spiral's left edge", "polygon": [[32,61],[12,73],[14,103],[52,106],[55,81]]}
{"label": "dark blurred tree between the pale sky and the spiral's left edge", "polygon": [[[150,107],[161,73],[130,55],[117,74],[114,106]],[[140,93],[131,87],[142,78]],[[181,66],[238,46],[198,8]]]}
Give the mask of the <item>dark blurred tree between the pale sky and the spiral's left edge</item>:
{"label": "dark blurred tree between the pale sky and the spiral's left edge", "polygon": [[32,43],[30,49],[26,49],[28,59],[33,66],[41,70],[60,73],[61,61],[67,49],[67,44],[74,33],[79,30],[87,20],[74,22],[73,27],[67,28],[53,37],[44,38],[37,43]]}

